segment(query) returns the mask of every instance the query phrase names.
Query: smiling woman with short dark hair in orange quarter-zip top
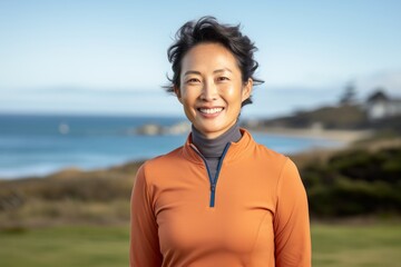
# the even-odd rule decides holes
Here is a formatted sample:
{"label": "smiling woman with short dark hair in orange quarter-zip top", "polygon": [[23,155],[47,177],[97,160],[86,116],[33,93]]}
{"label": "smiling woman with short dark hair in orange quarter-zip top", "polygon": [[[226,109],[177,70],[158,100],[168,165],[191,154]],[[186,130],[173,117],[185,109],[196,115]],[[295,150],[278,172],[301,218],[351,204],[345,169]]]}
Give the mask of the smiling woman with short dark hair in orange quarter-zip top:
{"label": "smiling woman with short dark hair in orange quarter-zip top", "polygon": [[239,27],[185,23],[168,49],[193,125],[186,144],[146,161],[131,197],[130,266],[310,266],[306,195],[295,165],[237,125],[256,50]]}

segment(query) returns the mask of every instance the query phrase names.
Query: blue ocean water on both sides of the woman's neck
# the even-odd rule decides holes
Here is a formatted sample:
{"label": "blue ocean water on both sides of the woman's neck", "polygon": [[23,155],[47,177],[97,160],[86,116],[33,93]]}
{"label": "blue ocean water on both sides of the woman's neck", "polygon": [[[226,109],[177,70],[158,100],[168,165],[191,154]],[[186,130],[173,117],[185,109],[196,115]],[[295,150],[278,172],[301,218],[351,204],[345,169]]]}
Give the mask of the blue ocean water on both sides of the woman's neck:
{"label": "blue ocean water on both sides of the woman's neck", "polygon": [[[0,178],[43,176],[63,168],[90,170],[144,160],[182,146],[187,132],[145,136],[136,129],[186,121],[183,117],[0,115]],[[253,132],[283,154],[340,144]]]}

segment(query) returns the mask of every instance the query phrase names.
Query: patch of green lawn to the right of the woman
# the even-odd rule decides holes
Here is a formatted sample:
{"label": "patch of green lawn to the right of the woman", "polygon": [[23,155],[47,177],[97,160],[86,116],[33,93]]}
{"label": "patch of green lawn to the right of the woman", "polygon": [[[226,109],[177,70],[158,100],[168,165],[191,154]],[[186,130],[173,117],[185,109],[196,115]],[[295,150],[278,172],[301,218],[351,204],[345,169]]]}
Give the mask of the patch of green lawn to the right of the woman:
{"label": "patch of green lawn to the right of the woman", "polygon": [[313,225],[313,266],[400,266],[401,225]]}

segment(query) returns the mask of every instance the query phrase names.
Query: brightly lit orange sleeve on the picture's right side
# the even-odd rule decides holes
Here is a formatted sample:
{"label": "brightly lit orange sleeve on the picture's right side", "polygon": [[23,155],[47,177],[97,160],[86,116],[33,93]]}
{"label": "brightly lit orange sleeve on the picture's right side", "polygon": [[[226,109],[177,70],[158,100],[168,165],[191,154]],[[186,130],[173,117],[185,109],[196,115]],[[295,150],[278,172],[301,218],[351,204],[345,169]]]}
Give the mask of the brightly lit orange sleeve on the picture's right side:
{"label": "brightly lit orange sleeve on the picture's right side", "polygon": [[310,267],[312,248],[307,198],[297,168],[288,158],[277,184],[273,224],[276,266]]}

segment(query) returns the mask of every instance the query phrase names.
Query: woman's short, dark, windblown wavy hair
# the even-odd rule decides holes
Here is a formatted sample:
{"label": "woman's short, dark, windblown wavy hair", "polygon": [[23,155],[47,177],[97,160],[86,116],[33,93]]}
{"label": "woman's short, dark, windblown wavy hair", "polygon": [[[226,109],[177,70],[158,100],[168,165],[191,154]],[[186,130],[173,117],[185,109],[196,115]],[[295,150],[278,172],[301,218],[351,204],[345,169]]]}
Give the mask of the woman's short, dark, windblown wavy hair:
{"label": "woman's short, dark, windblown wavy hair", "polygon": [[[243,82],[252,78],[254,85],[263,83],[256,79],[254,72],[258,67],[254,59],[257,48],[247,36],[242,34],[239,24],[229,26],[219,23],[214,17],[202,17],[199,20],[186,22],[175,36],[175,42],[168,48],[167,57],[172,63],[173,78],[167,76],[169,85],[164,88],[168,92],[174,92],[174,87],[179,88],[179,75],[184,56],[196,44],[212,42],[223,44],[236,58]],[[251,98],[243,101],[242,106],[252,103]]]}

